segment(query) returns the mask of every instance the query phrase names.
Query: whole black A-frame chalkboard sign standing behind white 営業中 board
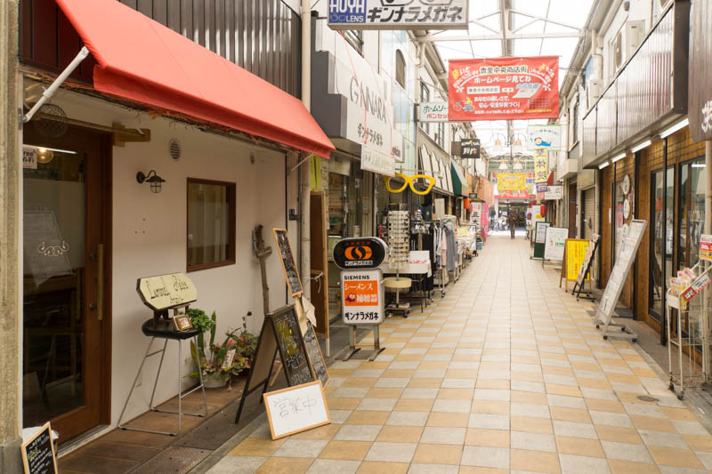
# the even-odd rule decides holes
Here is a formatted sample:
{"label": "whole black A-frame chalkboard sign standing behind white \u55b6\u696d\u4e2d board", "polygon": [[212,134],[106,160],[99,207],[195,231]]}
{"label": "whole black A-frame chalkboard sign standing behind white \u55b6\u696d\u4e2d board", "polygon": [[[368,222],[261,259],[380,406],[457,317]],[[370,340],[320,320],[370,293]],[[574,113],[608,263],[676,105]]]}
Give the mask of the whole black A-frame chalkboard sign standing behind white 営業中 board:
{"label": "whole black A-frame chalkboard sign standing behind white \u55b6\u696d\u4e2d board", "polygon": [[262,389],[263,393],[267,390],[277,352],[290,387],[314,381],[307,348],[304,345],[293,304],[283,306],[264,317],[255,358],[247,374],[245,390],[242,391],[238,414],[235,416],[236,423],[239,422],[247,396],[257,389]]}

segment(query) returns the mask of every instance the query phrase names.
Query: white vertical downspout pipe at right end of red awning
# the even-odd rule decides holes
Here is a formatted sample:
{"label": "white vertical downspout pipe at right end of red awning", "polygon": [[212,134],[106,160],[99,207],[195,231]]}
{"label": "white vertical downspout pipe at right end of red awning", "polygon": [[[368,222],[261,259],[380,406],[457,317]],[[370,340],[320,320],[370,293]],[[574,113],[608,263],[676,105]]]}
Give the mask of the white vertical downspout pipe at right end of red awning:
{"label": "white vertical downspout pipe at right end of red awning", "polygon": [[[312,111],[312,5],[310,0],[302,0],[302,102]],[[305,161],[307,154],[302,153],[298,162]],[[303,294],[312,296],[312,238],[310,236],[312,166],[299,167],[299,239],[300,265]]]}

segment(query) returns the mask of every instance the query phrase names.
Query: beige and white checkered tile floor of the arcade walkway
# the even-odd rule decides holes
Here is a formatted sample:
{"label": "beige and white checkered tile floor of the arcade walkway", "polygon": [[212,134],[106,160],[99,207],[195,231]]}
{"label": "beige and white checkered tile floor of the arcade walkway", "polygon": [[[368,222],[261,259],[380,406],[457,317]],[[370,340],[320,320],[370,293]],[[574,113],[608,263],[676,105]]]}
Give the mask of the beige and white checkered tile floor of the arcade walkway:
{"label": "beige and white checkered tile floor of the arcade walkway", "polygon": [[263,424],[209,473],[712,469],[708,431],[527,241],[480,255],[425,313],[385,321],[375,362],[330,367],[332,424],[276,441]]}

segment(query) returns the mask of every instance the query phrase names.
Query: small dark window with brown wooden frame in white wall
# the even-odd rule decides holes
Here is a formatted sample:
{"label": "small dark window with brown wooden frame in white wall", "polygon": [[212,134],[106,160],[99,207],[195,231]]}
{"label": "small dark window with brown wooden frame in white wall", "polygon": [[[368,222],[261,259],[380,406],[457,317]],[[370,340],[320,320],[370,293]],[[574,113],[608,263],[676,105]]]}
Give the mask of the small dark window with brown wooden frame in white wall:
{"label": "small dark window with brown wooden frame in white wall", "polygon": [[235,263],[235,183],[188,178],[187,271]]}

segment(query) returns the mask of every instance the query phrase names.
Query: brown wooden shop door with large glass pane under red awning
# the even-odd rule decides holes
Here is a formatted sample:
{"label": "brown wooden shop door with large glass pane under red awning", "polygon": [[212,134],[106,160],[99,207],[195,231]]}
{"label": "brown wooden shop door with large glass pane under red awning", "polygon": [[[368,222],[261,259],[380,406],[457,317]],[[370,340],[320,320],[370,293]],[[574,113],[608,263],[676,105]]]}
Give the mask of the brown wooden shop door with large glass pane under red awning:
{"label": "brown wooden shop door with large glass pane under red awning", "polygon": [[46,132],[24,129],[22,412],[64,442],[110,416],[111,145]]}

